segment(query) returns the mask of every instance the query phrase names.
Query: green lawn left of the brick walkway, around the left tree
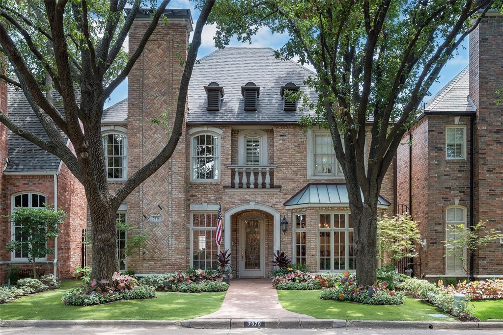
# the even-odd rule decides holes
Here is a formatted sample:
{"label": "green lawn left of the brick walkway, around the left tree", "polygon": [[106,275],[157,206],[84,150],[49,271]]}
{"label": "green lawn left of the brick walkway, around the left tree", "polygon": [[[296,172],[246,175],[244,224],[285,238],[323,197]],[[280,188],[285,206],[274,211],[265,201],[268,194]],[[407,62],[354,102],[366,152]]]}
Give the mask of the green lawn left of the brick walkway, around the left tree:
{"label": "green lawn left of the brick walkway, around the left tree", "polygon": [[120,301],[85,307],[63,305],[60,299],[65,289],[79,285],[79,282],[67,282],[58,290],[37,293],[0,304],[0,319],[183,320],[216,311],[225,297],[225,292],[157,292],[155,299]]}

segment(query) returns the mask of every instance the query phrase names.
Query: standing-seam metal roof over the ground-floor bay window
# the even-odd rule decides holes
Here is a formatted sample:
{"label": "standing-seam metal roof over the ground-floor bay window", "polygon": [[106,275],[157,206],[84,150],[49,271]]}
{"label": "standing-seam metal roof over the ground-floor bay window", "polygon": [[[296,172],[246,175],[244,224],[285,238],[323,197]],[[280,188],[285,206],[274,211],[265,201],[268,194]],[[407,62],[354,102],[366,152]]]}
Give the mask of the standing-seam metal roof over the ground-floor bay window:
{"label": "standing-seam metal roof over the ground-floor bay window", "polygon": [[[363,193],[362,193],[363,201]],[[310,183],[304,186],[299,192],[288,199],[284,205],[331,205],[349,203],[348,187],[344,183]],[[377,204],[389,206],[391,203],[379,195]]]}

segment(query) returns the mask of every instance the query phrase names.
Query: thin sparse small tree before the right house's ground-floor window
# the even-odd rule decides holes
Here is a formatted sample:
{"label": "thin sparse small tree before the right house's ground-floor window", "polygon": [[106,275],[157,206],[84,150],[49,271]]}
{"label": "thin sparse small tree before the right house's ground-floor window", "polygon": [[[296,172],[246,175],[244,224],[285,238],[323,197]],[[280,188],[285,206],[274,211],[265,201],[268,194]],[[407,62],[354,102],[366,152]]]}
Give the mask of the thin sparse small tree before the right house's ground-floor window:
{"label": "thin sparse small tree before the right house's ground-floor window", "polygon": [[[471,229],[465,225],[449,225],[446,229],[447,236],[452,238],[443,241],[447,247],[446,256],[457,257],[463,264],[463,269],[469,279],[469,260],[480,247],[502,239],[503,234],[495,229],[487,229],[487,221],[480,221]],[[463,252],[466,250],[466,255]]]}

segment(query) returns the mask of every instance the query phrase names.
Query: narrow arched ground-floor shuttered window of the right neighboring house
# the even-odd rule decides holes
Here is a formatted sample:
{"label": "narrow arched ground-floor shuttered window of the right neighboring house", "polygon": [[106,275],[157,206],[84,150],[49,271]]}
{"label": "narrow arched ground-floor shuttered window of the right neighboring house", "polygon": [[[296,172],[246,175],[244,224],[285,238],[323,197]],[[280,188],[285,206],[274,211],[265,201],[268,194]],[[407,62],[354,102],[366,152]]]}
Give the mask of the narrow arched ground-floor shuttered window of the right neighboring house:
{"label": "narrow arched ground-floor shuttered window of the right neighboring house", "polygon": [[[462,206],[447,207],[446,228],[449,226],[466,226],[466,208]],[[457,239],[455,233],[446,231],[446,240]],[[446,274],[464,274],[463,256],[465,250],[456,250],[453,247],[446,248]]]}

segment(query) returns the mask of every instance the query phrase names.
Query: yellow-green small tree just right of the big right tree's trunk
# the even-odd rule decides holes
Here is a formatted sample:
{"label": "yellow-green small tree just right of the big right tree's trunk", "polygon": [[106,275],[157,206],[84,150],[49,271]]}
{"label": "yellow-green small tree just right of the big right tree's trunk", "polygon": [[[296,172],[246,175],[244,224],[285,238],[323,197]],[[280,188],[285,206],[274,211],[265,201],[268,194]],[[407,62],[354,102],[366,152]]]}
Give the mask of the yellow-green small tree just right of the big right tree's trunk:
{"label": "yellow-green small tree just right of the big right tree's trunk", "polygon": [[383,264],[397,265],[404,257],[415,257],[415,244],[419,242],[417,222],[409,215],[384,215],[377,221],[377,244]]}

